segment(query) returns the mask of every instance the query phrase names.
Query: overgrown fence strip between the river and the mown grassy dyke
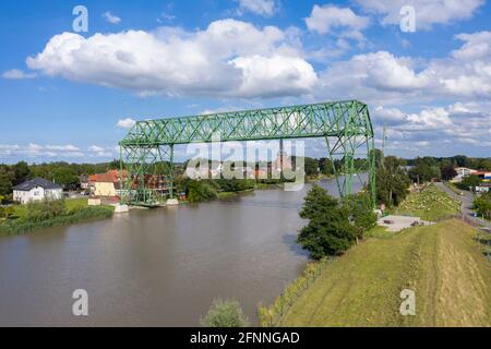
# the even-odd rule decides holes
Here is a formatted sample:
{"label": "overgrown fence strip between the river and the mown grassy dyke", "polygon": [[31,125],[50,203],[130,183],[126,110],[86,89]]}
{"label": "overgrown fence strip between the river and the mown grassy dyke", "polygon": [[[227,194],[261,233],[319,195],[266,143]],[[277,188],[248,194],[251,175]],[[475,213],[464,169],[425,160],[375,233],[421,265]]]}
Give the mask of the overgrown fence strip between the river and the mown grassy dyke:
{"label": "overgrown fence strip between the river and the mown grassy dyke", "polygon": [[336,257],[324,257],[319,262],[309,263],[292,284],[288,285],[272,305],[258,305],[258,316],[263,327],[276,327],[282,324],[284,315],[288,312],[295,301],[314,284],[318,277],[325,270],[327,265]]}

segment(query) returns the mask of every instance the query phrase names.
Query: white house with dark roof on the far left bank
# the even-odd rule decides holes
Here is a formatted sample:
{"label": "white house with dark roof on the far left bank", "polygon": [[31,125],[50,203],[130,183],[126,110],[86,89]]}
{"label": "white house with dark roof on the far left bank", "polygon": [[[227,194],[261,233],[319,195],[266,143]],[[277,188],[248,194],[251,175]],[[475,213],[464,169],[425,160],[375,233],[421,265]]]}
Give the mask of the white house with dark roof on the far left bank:
{"label": "white house with dark roof on the far left bank", "polygon": [[13,200],[21,204],[63,197],[61,185],[43,178],[35,178],[13,188]]}

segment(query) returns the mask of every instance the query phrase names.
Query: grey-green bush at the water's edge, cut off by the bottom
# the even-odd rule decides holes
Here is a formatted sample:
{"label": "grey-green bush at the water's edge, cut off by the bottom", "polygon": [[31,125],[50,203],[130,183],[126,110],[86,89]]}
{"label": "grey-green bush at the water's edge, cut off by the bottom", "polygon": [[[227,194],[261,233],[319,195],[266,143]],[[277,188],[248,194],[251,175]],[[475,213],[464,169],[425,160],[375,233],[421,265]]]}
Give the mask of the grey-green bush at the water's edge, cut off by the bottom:
{"label": "grey-green bush at the water's edge, cut off by the bottom", "polygon": [[248,327],[249,318],[243,314],[238,301],[215,299],[200,323],[204,327]]}

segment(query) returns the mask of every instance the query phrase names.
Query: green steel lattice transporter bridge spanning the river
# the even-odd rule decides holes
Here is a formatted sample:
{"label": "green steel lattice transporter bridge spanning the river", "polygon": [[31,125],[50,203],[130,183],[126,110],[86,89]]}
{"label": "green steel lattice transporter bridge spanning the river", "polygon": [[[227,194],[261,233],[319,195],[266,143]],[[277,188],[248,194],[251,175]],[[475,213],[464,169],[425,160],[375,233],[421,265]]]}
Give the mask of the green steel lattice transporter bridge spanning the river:
{"label": "green steel lattice transporter bridge spanning the river", "polygon": [[[157,206],[173,198],[175,146],[211,143],[214,134],[220,142],[324,139],[340,196],[351,194],[358,178],[374,205],[374,132],[367,105],[358,100],[139,121],[119,143],[121,170],[127,170],[121,201]],[[358,172],[368,172],[368,180]]]}

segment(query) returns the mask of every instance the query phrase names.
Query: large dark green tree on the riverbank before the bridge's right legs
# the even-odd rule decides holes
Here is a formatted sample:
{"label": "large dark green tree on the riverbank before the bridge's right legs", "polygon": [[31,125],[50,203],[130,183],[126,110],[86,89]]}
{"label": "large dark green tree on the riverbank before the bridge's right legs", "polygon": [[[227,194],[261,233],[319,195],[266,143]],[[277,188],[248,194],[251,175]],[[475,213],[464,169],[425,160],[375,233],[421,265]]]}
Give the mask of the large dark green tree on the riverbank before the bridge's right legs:
{"label": "large dark green tree on the riverbank before the bridge's right legs", "polygon": [[349,212],[319,185],[307,194],[300,217],[309,219],[309,224],[300,230],[297,241],[312,258],[340,255],[356,241]]}

